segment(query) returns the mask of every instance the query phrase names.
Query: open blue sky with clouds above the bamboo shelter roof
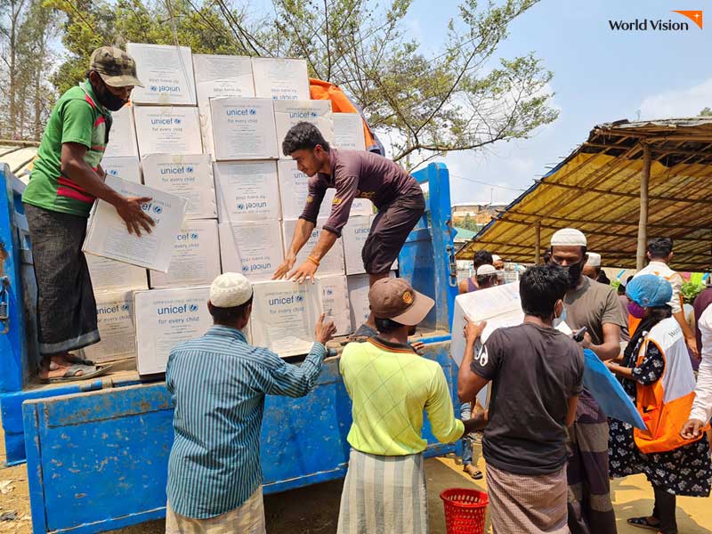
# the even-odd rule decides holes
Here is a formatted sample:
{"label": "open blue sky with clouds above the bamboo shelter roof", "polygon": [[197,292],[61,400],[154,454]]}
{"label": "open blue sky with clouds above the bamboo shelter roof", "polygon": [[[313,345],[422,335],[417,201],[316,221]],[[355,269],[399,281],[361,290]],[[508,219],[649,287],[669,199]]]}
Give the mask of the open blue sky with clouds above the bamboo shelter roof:
{"label": "open blue sky with clouds above the bamboo shelter roof", "polygon": [[[484,3],[482,3],[484,4]],[[415,0],[406,21],[426,55],[441,52],[457,2],[433,10]],[[708,27],[687,32],[611,31],[609,20],[685,21],[674,9],[696,10]],[[534,52],[554,72],[551,102],[559,118],[531,139],[498,143],[486,152],[450,153],[453,204],[506,204],[570,154],[598,124],[627,118],[690,117],[712,107],[712,4],[703,0],[543,0],[510,26],[502,57]],[[464,177],[464,178],[460,178]],[[487,182],[490,185],[472,182]],[[496,186],[496,187],[495,187]]]}

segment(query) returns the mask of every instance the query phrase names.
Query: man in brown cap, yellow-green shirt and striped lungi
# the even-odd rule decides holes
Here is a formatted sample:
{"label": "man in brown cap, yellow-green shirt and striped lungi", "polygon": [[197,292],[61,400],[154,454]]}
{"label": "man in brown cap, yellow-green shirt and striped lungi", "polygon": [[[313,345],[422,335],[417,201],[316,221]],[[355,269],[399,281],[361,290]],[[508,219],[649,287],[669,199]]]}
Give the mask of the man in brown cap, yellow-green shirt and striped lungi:
{"label": "man in brown cap, yellow-green shirt and striped lungi", "polygon": [[463,423],[455,417],[441,366],[408,345],[409,332],[431,311],[433,299],[404,279],[380,279],[368,300],[378,336],[346,345],[339,362],[353,402],[353,424],[338,533],[425,534],[423,411],[433,435],[444,443],[483,427],[484,418]]}

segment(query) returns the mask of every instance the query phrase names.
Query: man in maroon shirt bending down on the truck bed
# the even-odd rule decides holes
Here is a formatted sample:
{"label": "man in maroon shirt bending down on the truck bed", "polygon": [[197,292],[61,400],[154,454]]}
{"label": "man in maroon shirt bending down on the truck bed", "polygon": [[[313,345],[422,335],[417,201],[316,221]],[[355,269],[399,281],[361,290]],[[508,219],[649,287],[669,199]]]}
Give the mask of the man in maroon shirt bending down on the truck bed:
{"label": "man in maroon shirt bending down on the truck bed", "polygon": [[[282,142],[285,156],[296,161],[297,168],[310,177],[306,206],[299,217],[287,257],[272,279],[288,274],[302,283],[314,279],[321,259],[341,237],[349,219],[354,198],[368,198],[378,208],[361,257],[373,287],[378,279],[388,276],[408,234],[425,213],[425,197],[416,180],[390,159],[363,150],[336,150],[315,125],[301,122],[292,126]],[[307,260],[295,271],[296,255],[302,250],[317,223],[321,202],[329,188],[336,189],[331,214],[324,224],[319,242]],[[354,338],[376,335],[373,314]]]}

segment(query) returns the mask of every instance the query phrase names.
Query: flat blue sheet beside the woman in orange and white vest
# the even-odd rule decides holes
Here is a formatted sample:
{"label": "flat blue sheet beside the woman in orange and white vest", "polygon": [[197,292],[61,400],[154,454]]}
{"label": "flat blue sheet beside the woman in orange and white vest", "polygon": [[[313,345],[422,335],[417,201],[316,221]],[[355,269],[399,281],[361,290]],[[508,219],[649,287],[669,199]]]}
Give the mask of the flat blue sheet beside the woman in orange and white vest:
{"label": "flat blue sheet beside the woman in orange and white vest", "polygon": [[584,359],[584,386],[594,396],[603,413],[645,430],[643,417],[603,361],[588,349],[584,350]]}

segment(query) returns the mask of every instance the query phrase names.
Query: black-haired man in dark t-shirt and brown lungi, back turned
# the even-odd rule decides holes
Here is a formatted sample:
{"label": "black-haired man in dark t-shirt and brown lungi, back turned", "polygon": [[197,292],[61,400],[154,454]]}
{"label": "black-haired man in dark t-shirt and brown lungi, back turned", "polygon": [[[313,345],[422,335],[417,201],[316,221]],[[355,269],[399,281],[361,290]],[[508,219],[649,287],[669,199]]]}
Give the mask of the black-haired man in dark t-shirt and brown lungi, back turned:
{"label": "black-haired man in dark t-shirt and brown lungi, back turned", "polygon": [[482,454],[498,533],[563,532],[567,524],[566,427],[583,390],[583,349],[553,328],[569,279],[561,267],[522,275],[524,322],[498,328],[473,359],[483,324],[467,321],[457,376],[460,401],[491,384]]}

